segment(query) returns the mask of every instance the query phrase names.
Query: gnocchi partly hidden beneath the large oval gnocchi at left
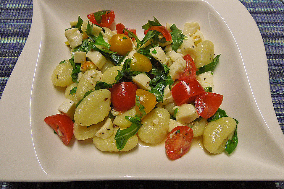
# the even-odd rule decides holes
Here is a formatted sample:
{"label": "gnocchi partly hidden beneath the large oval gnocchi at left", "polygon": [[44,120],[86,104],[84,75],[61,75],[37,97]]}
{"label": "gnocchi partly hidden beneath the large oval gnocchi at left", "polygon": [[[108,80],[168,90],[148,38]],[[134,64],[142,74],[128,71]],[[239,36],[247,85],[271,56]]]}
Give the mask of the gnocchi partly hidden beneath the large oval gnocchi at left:
{"label": "gnocchi partly hidden beneath the large oval gnocchi at left", "polygon": [[75,122],[73,129],[75,138],[79,141],[92,138],[93,136],[95,136],[96,132],[98,132],[99,129],[104,125],[107,118],[108,117],[106,117],[103,121],[89,127],[78,125],[78,123]]}

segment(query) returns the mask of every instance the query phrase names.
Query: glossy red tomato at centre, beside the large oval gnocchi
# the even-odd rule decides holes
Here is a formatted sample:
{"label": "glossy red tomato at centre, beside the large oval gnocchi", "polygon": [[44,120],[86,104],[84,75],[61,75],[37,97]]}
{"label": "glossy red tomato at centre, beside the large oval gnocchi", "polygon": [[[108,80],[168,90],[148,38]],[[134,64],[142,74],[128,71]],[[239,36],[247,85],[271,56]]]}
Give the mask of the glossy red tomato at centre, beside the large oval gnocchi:
{"label": "glossy red tomato at centre, beside the large oval gnocchi", "polygon": [[114,110],[125,111],[135,105],[137,85],[132,82],[122,82],[112,86],[111,101]]}

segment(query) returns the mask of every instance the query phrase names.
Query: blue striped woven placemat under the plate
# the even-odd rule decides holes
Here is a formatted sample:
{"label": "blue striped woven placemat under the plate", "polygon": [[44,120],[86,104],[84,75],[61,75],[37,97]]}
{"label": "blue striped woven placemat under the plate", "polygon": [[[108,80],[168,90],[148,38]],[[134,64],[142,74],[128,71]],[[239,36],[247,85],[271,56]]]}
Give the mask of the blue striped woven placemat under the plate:
{"label": "blue striped woven placemat under the plate", "polygon": [[[261,32],[267,54],[272,102],[284,133],[284,0],[240,0]],[[30,31],[32,0],[0,1],[0,98]],[[1,166],[1,165],[0,165]],[[64,183],[0,182],[12,188],[281,188],[284,182],[84,181]]]}

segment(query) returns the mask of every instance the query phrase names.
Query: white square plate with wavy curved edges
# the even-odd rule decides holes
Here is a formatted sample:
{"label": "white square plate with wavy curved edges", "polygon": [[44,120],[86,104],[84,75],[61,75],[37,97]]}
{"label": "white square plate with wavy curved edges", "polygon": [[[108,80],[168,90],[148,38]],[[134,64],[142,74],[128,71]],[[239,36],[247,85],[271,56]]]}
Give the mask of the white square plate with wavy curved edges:
{"label": "white square plate with wavy curved edges", "polygon": [[[43,119],[64,100],[64,89],[50,79],[55,66],[70,58],[64,29],[78,14],[86,19],[102,9],[114,10],[116,24],[137,29],[140,37],[153,16],[180,29],[199,22],[215,54],[222,54],[214,92],[224,95],[221,108],[239,121],[239,144],[230,156],[211,155],[197,143],[175,161],[167,158],[164,144],[139,145],[128,153],[99,151],[91,139],[62,144]],[[0,180],[284,180],[284,137],[272,106],[264,44],[237,0],[34,0],[30,35],[0,110]]]}

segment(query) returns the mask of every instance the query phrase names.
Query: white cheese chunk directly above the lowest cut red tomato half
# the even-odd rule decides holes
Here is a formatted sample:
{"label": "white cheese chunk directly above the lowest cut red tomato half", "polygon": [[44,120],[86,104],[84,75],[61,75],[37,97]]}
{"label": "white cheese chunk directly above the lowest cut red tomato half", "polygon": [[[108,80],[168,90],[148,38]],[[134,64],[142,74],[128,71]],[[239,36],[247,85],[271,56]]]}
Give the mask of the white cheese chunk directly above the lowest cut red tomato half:
{"label": "white cheese chunk directly above the lowest cut red tomato half", "polygon": [[180,123],[190,123],[196,118],[199,118],[199,115],[192,104],[183,104],[178,107],[175,118]]}

